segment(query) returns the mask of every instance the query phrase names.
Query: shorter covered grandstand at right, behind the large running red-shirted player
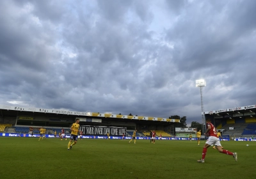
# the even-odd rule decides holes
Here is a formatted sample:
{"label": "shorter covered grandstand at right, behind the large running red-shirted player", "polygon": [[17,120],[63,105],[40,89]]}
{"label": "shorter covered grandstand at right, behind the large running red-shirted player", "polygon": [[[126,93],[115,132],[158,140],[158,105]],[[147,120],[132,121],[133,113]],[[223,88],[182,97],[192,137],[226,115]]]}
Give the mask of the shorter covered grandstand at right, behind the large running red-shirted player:
{"label": "shorter covered grandstand at right, behind the large running red-shirted player", "polygon": [[223,136],[255,137],[256,135],[256,105],[234,107],[206,111],[205,118],[210,118],[217,130]]}

